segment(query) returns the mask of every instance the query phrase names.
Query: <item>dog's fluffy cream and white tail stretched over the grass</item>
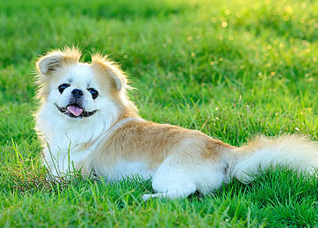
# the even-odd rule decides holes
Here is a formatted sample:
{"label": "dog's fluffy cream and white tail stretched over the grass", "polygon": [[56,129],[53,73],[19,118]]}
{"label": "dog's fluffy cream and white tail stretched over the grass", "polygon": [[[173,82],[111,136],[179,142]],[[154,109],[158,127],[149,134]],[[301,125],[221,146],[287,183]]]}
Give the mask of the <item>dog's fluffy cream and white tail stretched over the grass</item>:
{"label": "dog's fluffy cream and white tail stretched over the grass", "polygon": [[318,143],[305,136],[257,137],[254,142],[234,149],[230,175],[243,183],[271,166],[287,166],[313,174],[318,165]]}

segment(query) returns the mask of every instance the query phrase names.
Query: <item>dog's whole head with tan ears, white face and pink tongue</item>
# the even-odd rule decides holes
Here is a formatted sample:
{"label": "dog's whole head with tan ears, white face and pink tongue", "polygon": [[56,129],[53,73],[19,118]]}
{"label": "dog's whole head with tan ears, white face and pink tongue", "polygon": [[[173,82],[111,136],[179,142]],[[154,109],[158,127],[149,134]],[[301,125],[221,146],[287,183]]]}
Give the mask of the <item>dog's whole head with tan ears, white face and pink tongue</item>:
{"label": "dog's whole head with tan ears, white face and pink tongue", "polygon": [[54,113],[62,120],[119,118],[136,107],[126,96],[127,79],[107,57],[92,55],[92,62],[79,62],[75,48],[54,50],[37,61],[37,97],[42,114]]}

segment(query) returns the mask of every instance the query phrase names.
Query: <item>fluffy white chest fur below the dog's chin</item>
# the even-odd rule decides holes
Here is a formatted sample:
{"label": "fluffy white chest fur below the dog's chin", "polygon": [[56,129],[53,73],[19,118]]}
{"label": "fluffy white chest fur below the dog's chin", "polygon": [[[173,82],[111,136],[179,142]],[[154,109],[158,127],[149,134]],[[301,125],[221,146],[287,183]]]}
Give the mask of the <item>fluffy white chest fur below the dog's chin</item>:
{"label": "fluffy white chest fur below the dog's chin", "polygon": [[88,145],[107,131],[111,123],[94,118],[86,122],[76,120],[77,123],[74,124],[75,121],[71,118],[57,115],[59,113],[52,110],[53,107],[45,107],[39,113],[37,130],[42,132],[42,137],[47,142],[44,164],[56,176],[58,173],[73,171],[74,168],[81,169],[93,150]]}

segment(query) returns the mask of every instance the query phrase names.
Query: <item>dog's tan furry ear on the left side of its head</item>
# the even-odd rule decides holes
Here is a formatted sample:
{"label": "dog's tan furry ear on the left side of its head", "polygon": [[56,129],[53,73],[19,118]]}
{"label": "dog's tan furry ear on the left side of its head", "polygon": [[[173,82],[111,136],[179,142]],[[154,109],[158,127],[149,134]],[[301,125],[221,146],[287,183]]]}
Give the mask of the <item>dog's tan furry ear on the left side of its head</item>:
{"label": "dog's tan furry ear on the left side of its head", "polygon": [[41,74],[50,74],[67,64],[76,64],[81,58],[81,52],[76,47],[64,47],[54,50],[37,60],[37,69]]}

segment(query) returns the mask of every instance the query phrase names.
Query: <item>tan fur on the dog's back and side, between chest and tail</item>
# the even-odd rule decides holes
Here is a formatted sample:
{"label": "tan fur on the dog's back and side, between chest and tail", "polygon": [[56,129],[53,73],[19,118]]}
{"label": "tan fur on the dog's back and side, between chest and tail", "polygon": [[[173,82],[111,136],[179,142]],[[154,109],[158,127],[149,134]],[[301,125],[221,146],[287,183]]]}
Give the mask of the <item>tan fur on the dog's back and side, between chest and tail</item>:
{"label": "tan fur on the dog's back and side, between chest and tail", "polygon": [[112,165],[118,159],[125,159],[143,161],[149,169],[156,169],[170,154],[200,162],[218,159],[225,148],[232,147],[196,130],[134,120],[119,127],[100,144],[93,163]]}

